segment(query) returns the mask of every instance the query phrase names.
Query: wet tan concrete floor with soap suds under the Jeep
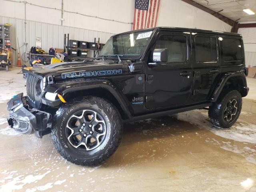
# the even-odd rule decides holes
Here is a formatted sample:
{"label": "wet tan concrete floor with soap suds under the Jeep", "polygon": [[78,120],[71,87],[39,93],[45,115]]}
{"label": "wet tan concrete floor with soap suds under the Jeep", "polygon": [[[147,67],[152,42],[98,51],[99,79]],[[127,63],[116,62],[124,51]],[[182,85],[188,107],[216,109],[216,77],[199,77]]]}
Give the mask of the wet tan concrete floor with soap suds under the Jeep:
{"label": "wet tan concrete floor with soap suds under the Jeep", "polygon": [[19,68],[0,71],[0,191],[256,191],[256,79],[238,122],[214,128],[205,110],[126,124],[116,153],[96,167],[64,160],[50,135],[8,128],[6,100],[25,92]]}

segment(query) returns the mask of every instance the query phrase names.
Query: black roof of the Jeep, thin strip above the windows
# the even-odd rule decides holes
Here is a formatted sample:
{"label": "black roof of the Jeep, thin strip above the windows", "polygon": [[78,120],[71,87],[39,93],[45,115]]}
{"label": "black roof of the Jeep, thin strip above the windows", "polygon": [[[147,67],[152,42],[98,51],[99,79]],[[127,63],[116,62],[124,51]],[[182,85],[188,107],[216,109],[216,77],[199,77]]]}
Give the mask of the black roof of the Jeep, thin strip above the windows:
{"label": "black roof of the Jeep, thin strip above the windows", "polygon": [[[150,31],[150,30],[174,30],[174,31],[187,31],[187,32],[204,32],[204,33],[214,33],[214,34],[223,34],[223,35],[232,35],[232,36],[241,36],[238,33],[231,33],[231,32],[222,32],[222,31],[214,31],[214,30],[203,30],[203,29],[193,29],[193,28],[180,28],[180,27],[155,27],[155,28],[148,28],[148,29],[139,29],[128,31],[116,35],[128,34],[128,33],[136,33],[136,32],[143,32],[143,31]],[[113,36],[116,36],[113,35]]]}

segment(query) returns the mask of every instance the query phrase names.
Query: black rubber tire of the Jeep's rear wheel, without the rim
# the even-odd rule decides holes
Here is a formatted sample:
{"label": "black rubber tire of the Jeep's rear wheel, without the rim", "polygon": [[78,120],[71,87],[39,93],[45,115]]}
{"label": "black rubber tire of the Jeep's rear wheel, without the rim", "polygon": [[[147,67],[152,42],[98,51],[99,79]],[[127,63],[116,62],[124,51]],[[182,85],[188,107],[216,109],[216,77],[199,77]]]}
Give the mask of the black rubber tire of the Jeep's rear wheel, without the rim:
{"label": "black rubber tire of the Jeep's rear wheel, without the rim", "polygon": [[[236,111],[236,114],[234,115],[234,118],[227,121],[224,118],[224,111],[226,109],[226,104],[233,99],[237,101],[237,104],[236,104],[237,111]],[[238,119],[241,109],[242,109],[242,97],[240,92],[238,92],[237,90],[226,90],[220,94],[217,102],[209,107],[208,115],[209,115],[210,121],[214,126],[219,128],[230,128],[232,125],[234,125],[234,123]]]}

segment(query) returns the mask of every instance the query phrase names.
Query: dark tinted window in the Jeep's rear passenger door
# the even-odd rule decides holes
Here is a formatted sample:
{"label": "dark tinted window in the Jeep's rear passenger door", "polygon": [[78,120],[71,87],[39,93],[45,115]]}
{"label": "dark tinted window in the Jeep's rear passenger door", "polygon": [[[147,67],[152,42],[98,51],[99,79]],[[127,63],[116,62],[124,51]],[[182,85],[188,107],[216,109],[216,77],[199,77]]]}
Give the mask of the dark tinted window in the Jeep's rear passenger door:
{"label": "dark tinted window in the Jeep's rear passenger door", "polygon": [[196,61],[216,61],[217,45],[215,37],[195,37]]}

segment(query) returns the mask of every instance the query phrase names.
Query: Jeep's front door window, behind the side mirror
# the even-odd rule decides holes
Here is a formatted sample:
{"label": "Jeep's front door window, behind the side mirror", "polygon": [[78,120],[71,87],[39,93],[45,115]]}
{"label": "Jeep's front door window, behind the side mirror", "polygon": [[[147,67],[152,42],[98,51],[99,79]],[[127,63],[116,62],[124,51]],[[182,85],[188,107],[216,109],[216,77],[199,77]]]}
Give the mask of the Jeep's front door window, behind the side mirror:
{"label": "Jeep's front door window, behind the side mirror", "polygon": [[186,36],[161,35],[155,49],[168,48],[168,62],[185,62],[187,55]]}

